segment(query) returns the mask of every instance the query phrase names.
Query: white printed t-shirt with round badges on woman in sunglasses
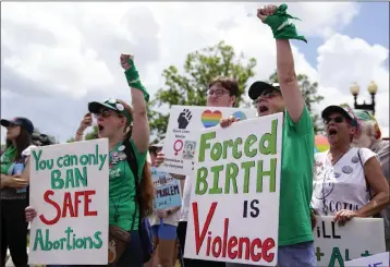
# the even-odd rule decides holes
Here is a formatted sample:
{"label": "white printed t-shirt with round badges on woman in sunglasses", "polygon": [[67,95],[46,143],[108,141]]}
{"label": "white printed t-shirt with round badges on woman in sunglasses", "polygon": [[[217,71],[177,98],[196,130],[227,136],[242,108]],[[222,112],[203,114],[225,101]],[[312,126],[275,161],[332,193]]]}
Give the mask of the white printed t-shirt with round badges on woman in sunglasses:
{"label": "white printed t-shirt with round badges on woman in sunglasses", "polygon": [[368,148],[350,148],[332,166],[328,151],[315,155],[312,207],[318,215],[361,209],[370,201],[363,166],[377,155]]}

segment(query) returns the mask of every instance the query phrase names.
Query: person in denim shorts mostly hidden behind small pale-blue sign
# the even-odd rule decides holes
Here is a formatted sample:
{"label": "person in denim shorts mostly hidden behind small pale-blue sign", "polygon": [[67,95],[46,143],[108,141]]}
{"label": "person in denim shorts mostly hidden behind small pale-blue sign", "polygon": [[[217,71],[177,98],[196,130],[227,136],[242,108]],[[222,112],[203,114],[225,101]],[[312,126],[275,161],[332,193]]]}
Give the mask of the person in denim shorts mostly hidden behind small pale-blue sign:
{"label": "person in denim shorts mostly hidden behind small pale-blue sign", "polygon": [[[158,144],[149,146],[150,165],[156,165],[156,157],[161,151],[163,141]],[[149,217],[153,230],[153,239],[155,244],[155,255],[151,263],[153,267],[172,267],[174,266],[175,244],[176,244],[176,229],[179,223],[180,207],[172,207],[169,209],[155,210]],[[175,254],[176,255],[176,254]]]}

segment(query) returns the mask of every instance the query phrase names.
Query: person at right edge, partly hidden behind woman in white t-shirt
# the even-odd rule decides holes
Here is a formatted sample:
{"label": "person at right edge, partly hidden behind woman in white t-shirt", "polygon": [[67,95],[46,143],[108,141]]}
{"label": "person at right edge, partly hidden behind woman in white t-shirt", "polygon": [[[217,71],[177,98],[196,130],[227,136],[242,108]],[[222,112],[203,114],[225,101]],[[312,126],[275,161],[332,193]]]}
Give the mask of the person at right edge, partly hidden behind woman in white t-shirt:
{"label": "person at right edge, partly hidden behind woman in white t-shirt", "polygon": [[[381,132],[377,120],[366,110],[354,110],[358,121],[358,131],[354,136],[352,144],[356,147],[366,147],[376,153],[382,167],[382,172],[390,183],[390,151],[389,141],[381,138]],[[381,213],[385,221],[386,250],[390,251],[390,205]]]}

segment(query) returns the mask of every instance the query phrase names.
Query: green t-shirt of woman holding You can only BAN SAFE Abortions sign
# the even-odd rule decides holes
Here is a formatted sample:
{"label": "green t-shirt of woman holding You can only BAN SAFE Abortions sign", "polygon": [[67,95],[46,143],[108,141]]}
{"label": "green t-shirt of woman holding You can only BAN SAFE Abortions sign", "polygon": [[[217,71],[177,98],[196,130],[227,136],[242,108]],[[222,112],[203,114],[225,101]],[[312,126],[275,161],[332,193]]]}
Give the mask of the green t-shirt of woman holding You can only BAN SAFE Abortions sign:
{"label": "green t-shirt of woman holding You can only BAN SAFE Abortions sign", "polygon": [[[139,153],[133,139],[130,141],[133,146],[134,155],[138,165],[138,179],[142,179],[143,168],[146,161],[147,153]],[[124,154],[124,146],[120,142],[110,151],[110,190],[109,190],[109,222],[126,231],[132,229],[133,215],[135,213],[135,183],[134,175]],[[115,215],[119,214],[115,222]],[[135,216],[133,230],[138,230],[139,208]]]}

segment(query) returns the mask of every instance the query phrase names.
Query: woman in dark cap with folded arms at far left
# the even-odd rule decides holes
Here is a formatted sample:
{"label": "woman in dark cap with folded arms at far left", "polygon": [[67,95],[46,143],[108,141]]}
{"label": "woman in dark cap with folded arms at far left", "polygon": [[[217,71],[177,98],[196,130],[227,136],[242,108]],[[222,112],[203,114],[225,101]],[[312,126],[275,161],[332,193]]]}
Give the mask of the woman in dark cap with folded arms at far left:
{"label": "woman in dark cap with folded arms at far left", "polygon": [[1,156],[1,266],[5,266],[7,250],[15,267],[27,266],[27,226],[24,209],[28,205],[28,157],[33,123],[22,117],[1,120],[7,128],[7,146]]}

